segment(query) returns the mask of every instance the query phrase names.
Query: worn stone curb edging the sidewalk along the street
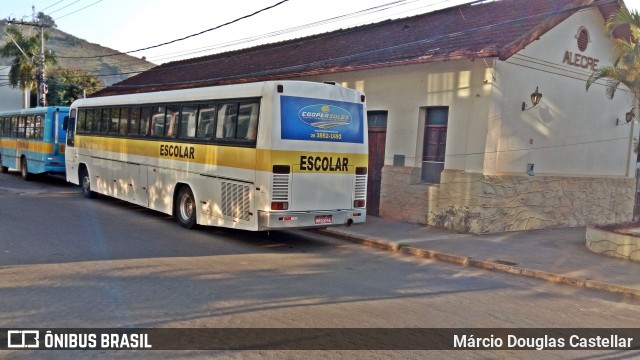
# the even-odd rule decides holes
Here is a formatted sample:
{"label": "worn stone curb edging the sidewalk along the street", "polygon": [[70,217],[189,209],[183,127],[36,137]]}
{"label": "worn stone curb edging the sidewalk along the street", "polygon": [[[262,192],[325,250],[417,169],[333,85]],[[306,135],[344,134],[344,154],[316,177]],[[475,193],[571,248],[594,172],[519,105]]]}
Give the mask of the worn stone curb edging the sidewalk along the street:
{"label": "worn stone curb edging the sidewalk along the street", "polygon": [[433,259],[433,260],[448,262],[451,264],[457,264],[462,266],[473,266],[473,267],[484,269],[484,270],[501,271],[501,272],[505,272],[513,275],[520,275],[520,276],[526,276],[526,277],[531,277],[535,279],[545,280],[545,281],[553,282],[556,284],[573,285],[573,286],[587,288],[587,289],[606,291],[613,294],[640,298],[640,289],[630,288],[627,286],[608,284],[605,282],[595,281],[595,280],[580,279],[573,276],[559,275],[559,274],[554,274],[547,271],[506,265],[506,264],[501,264],[493,261],[477,260],[477,259],[466,257],[466,256],[451,255],[451,254],[441,253],[433,250],[415,248],[411,246],[403,246],[400,244],[390,243],[384,240],[369,239],[369,238],[360,237],[357,235],[345,234],[345,233],[335,231],[335,230],[330,230],[330,229],[322,229],[322,230],[315,230],[315,231],[323,235],[332,236],[332,237],[346,240],[352,243],[365,245],[365,246],[369,246],[369,247],[380,249],[380,250],[397,252],[403,255],[410,255],[410,256],[420,257],[424,259]]}

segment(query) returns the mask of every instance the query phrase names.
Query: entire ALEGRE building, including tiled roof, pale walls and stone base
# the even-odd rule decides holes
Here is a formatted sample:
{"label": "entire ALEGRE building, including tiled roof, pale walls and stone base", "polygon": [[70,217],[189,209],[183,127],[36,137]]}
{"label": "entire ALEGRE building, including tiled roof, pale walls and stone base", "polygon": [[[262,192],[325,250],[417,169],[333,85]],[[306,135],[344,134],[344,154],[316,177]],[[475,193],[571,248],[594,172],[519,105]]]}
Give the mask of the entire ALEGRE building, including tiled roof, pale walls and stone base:
{"label": "entire ALEGRE building, including tiled roof, pale walls and stone base", "polygon": [[[612,61],[604,24],[621,6],[463,5],[169,63],[102,95],[274,78],[336,81],[367,94],[373,215],[476,233],[626,222],[636,195],[638,126],[626,121],[634,99],[621,89],[609,100],[604,82],[585,88],[593,70]],[[289,60],[297,63],[260,66],[283,48],[299,51]],[[323,49],[324,58],[307,58]],[[237,69],[225,70],[231,61]],[[189,73],[196,65],[215,69]],[[533,93],[542,95],[535,106]]]}

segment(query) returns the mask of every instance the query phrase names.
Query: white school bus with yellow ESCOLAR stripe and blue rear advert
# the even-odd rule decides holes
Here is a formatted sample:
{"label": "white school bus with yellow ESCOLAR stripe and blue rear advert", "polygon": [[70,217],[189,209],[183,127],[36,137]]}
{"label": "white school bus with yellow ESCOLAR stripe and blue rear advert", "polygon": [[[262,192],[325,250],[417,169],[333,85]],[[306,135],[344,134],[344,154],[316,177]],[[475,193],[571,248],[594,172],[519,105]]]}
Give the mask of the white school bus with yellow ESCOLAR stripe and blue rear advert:
{"label": "white school bus with yellow ESCOLAR stripe and blue rear advert", "polygon": [[80,99],[67,181],[196,224],[246,230],[366,220],[363,93],[267,81]]}

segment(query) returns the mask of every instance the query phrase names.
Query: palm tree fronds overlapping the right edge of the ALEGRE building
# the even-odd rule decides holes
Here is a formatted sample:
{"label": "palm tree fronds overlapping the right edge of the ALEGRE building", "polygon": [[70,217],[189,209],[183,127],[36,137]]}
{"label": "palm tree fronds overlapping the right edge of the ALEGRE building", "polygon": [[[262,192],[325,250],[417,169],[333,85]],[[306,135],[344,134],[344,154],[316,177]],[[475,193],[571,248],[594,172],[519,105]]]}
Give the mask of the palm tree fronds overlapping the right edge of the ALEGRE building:
{"label": "palm tree fronds overlapping the right edge of the ALEGRE building", "polygon": [[622,7],[607,21],[605,31],[613,36],[620,26],[629,30],[629,37],[614,39],[613,65],[596,69],[587,79],[587,90],[596,81],[606,79],[607,97],[613,99],[616,90],[624,85],[633,94],[635,109],[635,104],[640,101],[640,14]]}

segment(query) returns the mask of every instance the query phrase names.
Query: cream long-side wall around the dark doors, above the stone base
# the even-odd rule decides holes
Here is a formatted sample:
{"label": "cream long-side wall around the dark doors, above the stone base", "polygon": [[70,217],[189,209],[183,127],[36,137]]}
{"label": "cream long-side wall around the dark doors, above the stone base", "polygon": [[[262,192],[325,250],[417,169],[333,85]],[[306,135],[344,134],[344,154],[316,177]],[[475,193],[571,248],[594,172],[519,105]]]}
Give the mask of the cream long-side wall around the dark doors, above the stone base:
{"label": "cream long-side wall around the dark doors, above the stone base", "polygon": [[492,61],[455,60],[397,66],[304,80],[332,80],[364,91],[367,110],[388,111],[385,164],[405,156],[405,166],[422,166],[424,109],[449,107],[448,169],[481,171],[490,104]]}

